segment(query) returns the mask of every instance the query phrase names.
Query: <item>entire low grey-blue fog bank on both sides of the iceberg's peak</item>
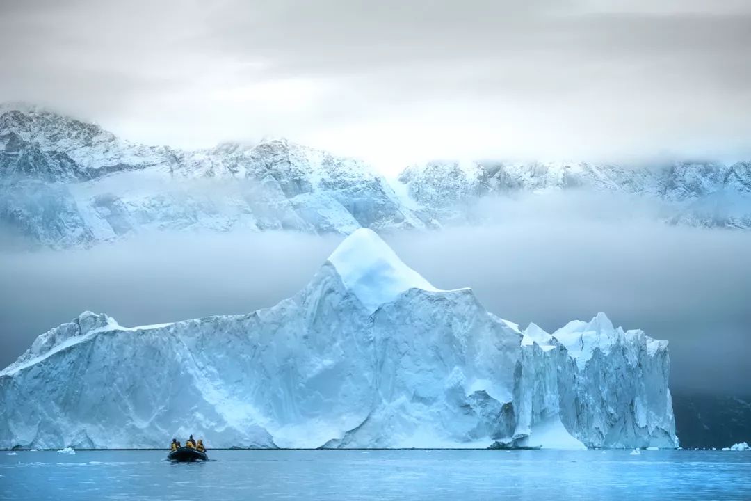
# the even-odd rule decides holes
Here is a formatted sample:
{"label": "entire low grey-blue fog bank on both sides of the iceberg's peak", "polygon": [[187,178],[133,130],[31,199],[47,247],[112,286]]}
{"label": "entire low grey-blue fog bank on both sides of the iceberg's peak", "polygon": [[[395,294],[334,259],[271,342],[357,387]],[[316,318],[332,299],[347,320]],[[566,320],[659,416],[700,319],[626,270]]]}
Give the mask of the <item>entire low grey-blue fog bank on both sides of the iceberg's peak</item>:
{"label": "entire low grey-blue fog bank on both sides of the iceberg's peak", "polygon": [[[433,285],[472,287],[503,318],[552,331],[604,311],[616,325],[670,340],[673,388],[751,394],[751,234],[513,216],[385,239]],[[272,306],[302,288],[341,239],[161,234],[88,251],[6,250],[0,366],[86,309],[130,326]]]}

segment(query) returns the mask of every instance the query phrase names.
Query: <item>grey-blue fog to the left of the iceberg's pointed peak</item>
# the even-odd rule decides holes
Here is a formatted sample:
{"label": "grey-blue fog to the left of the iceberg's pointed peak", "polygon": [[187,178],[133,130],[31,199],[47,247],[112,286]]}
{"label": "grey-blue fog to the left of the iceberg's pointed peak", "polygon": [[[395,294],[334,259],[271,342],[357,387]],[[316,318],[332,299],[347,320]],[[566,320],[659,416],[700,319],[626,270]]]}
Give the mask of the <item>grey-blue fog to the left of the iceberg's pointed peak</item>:
{"label": "grey-blue fog to the left of the iceberg's pointed peak", "polygon": [[162,233],[88,250],[0,251],[0,366],[86,310],[131,327],[273,306],[303,288],[339,240]]}

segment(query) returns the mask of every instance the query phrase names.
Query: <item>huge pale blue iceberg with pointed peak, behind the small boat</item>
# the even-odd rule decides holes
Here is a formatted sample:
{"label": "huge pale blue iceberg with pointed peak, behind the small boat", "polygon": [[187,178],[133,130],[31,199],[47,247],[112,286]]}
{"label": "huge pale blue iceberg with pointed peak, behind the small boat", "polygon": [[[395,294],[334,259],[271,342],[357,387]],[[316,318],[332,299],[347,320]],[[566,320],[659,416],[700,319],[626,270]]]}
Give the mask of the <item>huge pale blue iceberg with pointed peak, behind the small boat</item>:
{"label": "huge pale blue iceberg with pointed peak, behind the small boat", "polygon": [[672,448],[669,365],[602,313],[520,331],[360,229],[269,309],[42,334],[0,372],[0,448]]}

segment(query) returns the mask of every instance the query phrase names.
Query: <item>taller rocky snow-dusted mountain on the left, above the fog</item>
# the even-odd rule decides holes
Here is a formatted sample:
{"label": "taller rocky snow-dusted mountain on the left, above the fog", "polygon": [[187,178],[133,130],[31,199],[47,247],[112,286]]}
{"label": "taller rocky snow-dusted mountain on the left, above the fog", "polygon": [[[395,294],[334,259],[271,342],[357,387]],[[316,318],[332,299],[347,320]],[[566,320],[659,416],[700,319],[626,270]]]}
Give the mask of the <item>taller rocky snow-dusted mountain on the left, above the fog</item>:
{"label": "taller rocky snow-dusted mountain on the left, above the fog", "polygon": [[144,146],[34,107],[0,116],[0,222],[56,248],[143,231],[424,227],[361,161],[287,140]]}

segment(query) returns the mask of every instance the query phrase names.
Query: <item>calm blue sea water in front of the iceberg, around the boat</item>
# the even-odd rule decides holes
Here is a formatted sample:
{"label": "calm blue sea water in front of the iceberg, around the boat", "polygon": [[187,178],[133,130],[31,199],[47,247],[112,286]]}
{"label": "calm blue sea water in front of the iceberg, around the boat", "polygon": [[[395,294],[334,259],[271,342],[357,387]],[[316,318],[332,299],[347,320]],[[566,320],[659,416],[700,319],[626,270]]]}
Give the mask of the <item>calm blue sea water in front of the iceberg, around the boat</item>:
{"label": "calm blue sea water in front of the iceberg, around the boat", "polygon": [[751,499],[751,452],[0,451],[0,499]]}

